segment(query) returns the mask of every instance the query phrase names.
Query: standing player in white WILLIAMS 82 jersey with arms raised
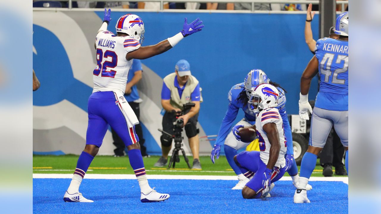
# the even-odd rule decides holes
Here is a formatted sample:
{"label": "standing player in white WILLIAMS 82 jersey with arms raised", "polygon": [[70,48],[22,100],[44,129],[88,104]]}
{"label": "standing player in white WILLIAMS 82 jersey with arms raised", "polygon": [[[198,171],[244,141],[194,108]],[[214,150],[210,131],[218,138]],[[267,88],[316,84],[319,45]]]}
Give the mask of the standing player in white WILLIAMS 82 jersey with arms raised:
{"label": "standing player in white WILLIAMS 82 jersey with arms raised", "polygon": [[141,202],[163,201],[170,197],[161,194],[148,184],[144,163],[140,152],[139,139],[134,125],[139,121],[124,99],[128,71],[133,59],[147,59],[170,50],[182,38],[202,30],[202,21],[196,19],[191,24],[187,18],[178,34],[156,45],[141,46],[144,23],[139,16],[126,14],[116,24],[117,35],[107,30],[111,20],[111,10],[104,10],[104,19],[96,35],[97,65],[93,71],[94,89],[88,101],[88,127],[86,146],[78,158],[70,186],[64,201],[93,202],[79,192],[79,186],[94,156],[102,145],[108,124],[120,136],[128,149],[131,167],[138,179]]}

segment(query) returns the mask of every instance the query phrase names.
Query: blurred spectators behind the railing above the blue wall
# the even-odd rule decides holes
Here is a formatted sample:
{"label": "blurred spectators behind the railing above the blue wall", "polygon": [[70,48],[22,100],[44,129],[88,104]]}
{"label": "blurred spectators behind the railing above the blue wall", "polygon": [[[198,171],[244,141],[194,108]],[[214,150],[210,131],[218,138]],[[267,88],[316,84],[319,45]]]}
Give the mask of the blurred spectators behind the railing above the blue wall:
{"label": "blurred spectators behind the railing above the blue wall", "polygon": [[[341,4],[336,5],[336,10],[341,11]],[[68,1],[33,1],[33,7],[55,7],[67,8]],[[97,2],[97,1],[73,1],[73,8],[136,8],[160,10],[160,2],[130,2],[130,1],[115,1],[115,2]],[[345,10],[348,10],[348,5],[344,5]],[[251,10],[251,3],[198,3],[198,2],[164,2],[163,9],[185,9],[185,10]],[[306,11],[306,4],[281,4],[281,3],[255,3],[254,10],[285,10],[285,11]],[[313,5],[313,11],[319,10],[319,5]]]}

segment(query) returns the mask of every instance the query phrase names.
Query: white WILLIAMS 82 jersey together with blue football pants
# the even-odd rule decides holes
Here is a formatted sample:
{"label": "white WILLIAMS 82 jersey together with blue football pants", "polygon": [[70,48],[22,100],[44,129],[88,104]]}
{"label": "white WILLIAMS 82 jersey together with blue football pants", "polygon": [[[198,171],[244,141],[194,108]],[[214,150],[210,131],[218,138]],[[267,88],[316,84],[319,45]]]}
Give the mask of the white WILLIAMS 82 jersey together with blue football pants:
{"label": "white WILLIAMS 82 jersey together with blue football pants", "polygon": [[139,141],[134,125],[138,118],[124,97],[128,71],[133,60],[126,54],[140,48],[134,37],[117,37],[110,31],[96,36],[97,65],[93,71],[93,94],[88,101],[88,128],[86,144],[101,147],[108,124],[126,146]]}

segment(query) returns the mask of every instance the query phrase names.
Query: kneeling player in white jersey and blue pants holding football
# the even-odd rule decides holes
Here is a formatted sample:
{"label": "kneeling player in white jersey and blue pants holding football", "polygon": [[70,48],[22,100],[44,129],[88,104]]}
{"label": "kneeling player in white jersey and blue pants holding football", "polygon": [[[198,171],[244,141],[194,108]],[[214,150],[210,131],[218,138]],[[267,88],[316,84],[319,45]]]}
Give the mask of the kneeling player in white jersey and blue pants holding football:
{"label": "kneeling player in white jersey and blue pants holding football", "polygon": [[242,189],[243,198],[269,196],[274,182],[279,180],[292,164],[286,159],[287,145],[283,120],[278,106],[279,91],[270,84],[261,84],[251,92],[248,108],[256,114],[255,125],[259,139],[258,151],[243,151],[234,161],[249,182]]}

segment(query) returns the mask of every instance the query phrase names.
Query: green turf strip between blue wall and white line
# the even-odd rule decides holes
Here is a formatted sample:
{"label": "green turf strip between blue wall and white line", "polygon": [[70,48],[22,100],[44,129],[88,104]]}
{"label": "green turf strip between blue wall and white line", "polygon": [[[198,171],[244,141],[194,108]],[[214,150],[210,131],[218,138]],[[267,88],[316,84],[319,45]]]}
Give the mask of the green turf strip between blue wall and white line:
{"label": "green turf strip between blue wall and white line", "polygon": [[[158,156],[143,158],[147,174],[168,174],[168,175],[235,175],[226,161],[221,156],[213,164],[210,157],[200,157],[202,170],[188,169],[184,158],[180,158],[180,163],[176,163],[175,169],[154,167]],[[192,166],[193,159],[189,158]],[[33,155],[33,173],[61,173],[72,174],[77,164],[78,155]],[[319,160],[312,176],[322,177],[323,168],[319,165]],[[91,174],[133,174],[128,157],[97,156],[94,158],[87,173]],[[334,173],[335,174],[335,173]],[[288,176],[286,173],[285,176]],[[335,175],[334,175],[335,176]]]}

